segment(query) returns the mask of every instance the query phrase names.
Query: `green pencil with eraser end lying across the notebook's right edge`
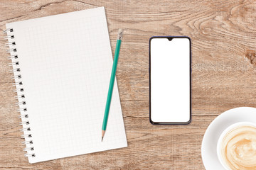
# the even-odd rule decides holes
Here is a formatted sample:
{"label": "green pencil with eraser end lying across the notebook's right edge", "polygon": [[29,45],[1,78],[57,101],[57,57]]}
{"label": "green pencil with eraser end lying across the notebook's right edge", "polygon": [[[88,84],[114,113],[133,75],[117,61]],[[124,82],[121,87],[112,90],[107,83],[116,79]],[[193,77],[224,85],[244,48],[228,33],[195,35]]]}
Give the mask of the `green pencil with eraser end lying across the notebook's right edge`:
{"label": "green pencil with eraser end lying across the notebook's right edge", "polygon": [[113,92],[113,87],[114,87],[114,77],[115,77],[115,73],[117,70],[117,61],[118,61],[119,50],[121,47],[123,33],[124,33],[124,30],[122,30],[122,29],[118,30],[117,46],[116,46],[116,50],[114,52],[114,61],[113,61],[113,67],[112,67],[112,72],[111,72],[111,77],[110,77],[110,86],[109,86],[109,91],[107,93],[107,103],[106,103],[105,114],[104,114],[103,123],[102,123],[102,140],[105,135],[105,131],[107,128],[107,118],[110,113],[110,103],[111,103],[112,92]]}

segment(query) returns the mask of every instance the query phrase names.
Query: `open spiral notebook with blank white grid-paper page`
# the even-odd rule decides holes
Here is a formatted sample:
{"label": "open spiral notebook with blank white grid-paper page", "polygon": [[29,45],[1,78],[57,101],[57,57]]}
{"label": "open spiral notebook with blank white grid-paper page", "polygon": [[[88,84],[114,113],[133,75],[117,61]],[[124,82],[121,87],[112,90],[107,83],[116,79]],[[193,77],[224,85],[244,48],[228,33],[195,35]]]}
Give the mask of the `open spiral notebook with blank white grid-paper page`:
{"label": "open spiral notebook with blank white grid-paper page", "polygon": [[116,82],[101,141],[112,70],[104,7],[7,23],[5,32],[28,162],[127,147]]}

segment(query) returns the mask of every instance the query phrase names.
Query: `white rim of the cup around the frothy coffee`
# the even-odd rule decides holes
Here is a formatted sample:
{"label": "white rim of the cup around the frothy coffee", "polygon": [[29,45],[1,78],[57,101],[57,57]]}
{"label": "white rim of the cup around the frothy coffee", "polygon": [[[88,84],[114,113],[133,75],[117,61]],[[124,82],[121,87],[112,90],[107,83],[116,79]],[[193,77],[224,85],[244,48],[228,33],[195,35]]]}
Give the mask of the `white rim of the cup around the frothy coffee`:
{"label": "white rim of the cup around the frothy coffee", "polygon": [[228,166],[228,164],[225,162],[222,154],[221,154],[221,148],[223,145],[223,138],[228,134],[228,132],[230,132],[231,130],[234,130],[235,128],[238,128],[240,126],[252,126],[256,128],[256,124],[255,123],[250,123],[250,122],[239,122],[239,123],[235,123],[233,125],[230,125],[228,128],[226,128],[220,135],[219,139],[218,139],[218,144],[217,144],[217,155],[218,155],[218,159],[220,161],[220,163],[222,164],[222,166],[226,169],[226,170],[232,170],[230,169],[230,167]]}

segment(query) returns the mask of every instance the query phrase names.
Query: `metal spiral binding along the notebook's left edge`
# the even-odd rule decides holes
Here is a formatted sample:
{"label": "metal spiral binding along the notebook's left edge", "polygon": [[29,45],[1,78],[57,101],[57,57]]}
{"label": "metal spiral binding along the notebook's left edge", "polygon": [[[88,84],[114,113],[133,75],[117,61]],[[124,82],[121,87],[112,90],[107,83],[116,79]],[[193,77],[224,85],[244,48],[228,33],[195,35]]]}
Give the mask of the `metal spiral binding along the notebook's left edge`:
{"label": "metal spiral binding along the notebook's left edge", "polygon": [[16,106],[19,106],[17,112],[21,113],[21,115],[18,115],[18,118],[21,119],[21,123],[19,123],[19,125],[22,125],[21,132],[23,132],[21,138],[25,139],[25,141],[22,142],[22,144],[26,145],[23,151],[26,152],[25,157],[36,157],[36,154],[33,153],[35,149],[33,147],[33,137],[31,134],[29,118],[28,114],[26,113],[28,109],[25,107],[25,94],[21,77],[21,69],[19,68],[18,55],[16,54],[17,48],[13,32],[13,28],[8,28],[4,30],[4,33],[6,34],[4,38],[9,41],[5,44],[5,46],[9,47],[9,49],[6,50],[6,52],[10,53],[8,60],[11,60],[11,62],[9,63],[9,66],[11,67],[9,72],[14,74],[14,76],[11,77],[11,79],[15,80],[15,82],[12,85],[16,86],[14,93],[17,94],[16,99],[18,99],[18,102],[16,103]]}

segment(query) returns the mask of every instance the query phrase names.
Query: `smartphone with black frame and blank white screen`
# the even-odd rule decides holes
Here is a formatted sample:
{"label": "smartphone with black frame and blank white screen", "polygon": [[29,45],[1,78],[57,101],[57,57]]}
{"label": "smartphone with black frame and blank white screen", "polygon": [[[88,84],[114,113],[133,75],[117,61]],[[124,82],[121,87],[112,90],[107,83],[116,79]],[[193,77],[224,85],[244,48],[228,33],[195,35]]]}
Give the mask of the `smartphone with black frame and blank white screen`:
{"label": "smartphone with black frame and blank white screen", "polygon": [[191,123],[191,39],[149,39],[149,120],[154,125]]}

